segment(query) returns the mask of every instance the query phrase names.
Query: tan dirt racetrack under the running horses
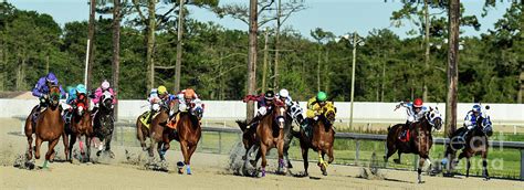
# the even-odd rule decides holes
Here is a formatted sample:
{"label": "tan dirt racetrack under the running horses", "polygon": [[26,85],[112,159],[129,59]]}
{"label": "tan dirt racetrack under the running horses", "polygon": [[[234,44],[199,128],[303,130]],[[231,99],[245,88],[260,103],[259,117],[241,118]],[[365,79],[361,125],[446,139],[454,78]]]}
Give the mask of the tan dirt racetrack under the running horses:
{"label": "tan dirt racetrack under the running horses", "polygon": [[[360,168],[332,165],[328,176],[321,175],[316,165],[310,165],[312,178],[295,178],[269,173],[265,178],[234,176],[228,170],[228,156],[196,152],[191,162],[192,176],[175,172],[175,162],[180,151],[168,151],[171,172],[145,170],[132,165],[130,157],[142,155],[135,147],[114,147],[116,158],[105,163],[53,162],[50,169],[24,170],[13,167],[18,155],[25,151],[27,141],[17,119],[0,119],[0,189],[524,189],[523,181],[481,178],[442,178],[423,176],[422,184],[416,183],[416,172],[381,170],[386,179],[358,178]],[[63,158],[62,141],[57,156]],[[42,151],[48,149],[43,144]],[[336,152],[335,152],[336,157]],[[42,166],[43,158],[36,161]],[[274,171],[275,160],[270,160],[269,170]],[[301,162],[294,162],[293,172],[302,171]]]}

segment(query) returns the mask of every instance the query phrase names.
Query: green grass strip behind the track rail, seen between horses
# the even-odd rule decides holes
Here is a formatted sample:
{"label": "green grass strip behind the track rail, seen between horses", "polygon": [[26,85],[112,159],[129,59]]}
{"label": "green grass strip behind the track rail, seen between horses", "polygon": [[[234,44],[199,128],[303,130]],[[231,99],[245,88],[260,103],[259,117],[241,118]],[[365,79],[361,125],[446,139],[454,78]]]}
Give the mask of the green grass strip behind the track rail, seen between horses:
{"label": "green grass strip behind the track rail, seen between horses", "polygon": [[[118,135],[118,140],[114,141],[114,145],[124,145],[124,146],[139,146],[138,140],[136,139],[136,130],[126,128],[117,129],[115,134]],[[212,152],[212,154],[223,154],[228,155],[233,147],[240,142],[239,134],[228,134],[228,133],[202,133],[202,138],[198,146],[197,151],[200,152]],[[524,139],[523,134],[517,135],[506,135],[503,137],[492,136],[491,140],[503,139],[517,141]],[[335,163],[338,165],[358,165],[358,166],[368,166],[371,160],[371,155],[375,152],[376,158],[379,162],[384,163],[382,157],[385,156],[385,144],[384,141],[369,141],[369,140],[359,140],[360,151],[358,162],[356,160],[356,140],[352,139],[336,139],[334,145],[334,155]],[[179,150],[180,145],[178,141],[171,141],[171,149]],[[438,161],[442,159],[444,152],[443,145],[434,145],[430,151],[430,158],[432,161]],[[271,158],[275,158],[276,151],[273,149],[270,152]],[[494,148],[490,149],[489,152],[489,171],[492,177],[501,178],[518,178],[521,169],[521,155],[517,149],[500,149]],[[301,149],[298,147],[297,139],[294,139],[292,147],[290,148],[290,158],[294,160],[302,160]],[[318,155],[313,150],[310,150],[308,158],[311,161],[316,161]],[[388,168],[396,169],[413,169],[415,160],[418,159],[415,155],[402,155],[401,163],[397,165],[392,162],[392,159],[397,158],[397,154],[389,158],[387,165]],[[472,168],[470,169],[470,175],[482,175],[482,162],[480,156],[476,156],[471,159]],[[426,165],[428,166],[428,165]],[[458,171],[460,173],[465,173],[465,159],[461,160],[458,166]]]}

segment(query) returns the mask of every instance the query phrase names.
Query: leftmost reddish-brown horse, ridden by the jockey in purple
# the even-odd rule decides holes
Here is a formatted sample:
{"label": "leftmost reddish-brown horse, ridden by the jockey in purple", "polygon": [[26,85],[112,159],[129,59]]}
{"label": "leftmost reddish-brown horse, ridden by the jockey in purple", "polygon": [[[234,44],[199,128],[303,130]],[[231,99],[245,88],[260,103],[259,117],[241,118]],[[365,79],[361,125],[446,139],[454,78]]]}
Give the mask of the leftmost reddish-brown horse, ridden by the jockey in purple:
{"label": "leftmost reddish-brown horse, ridden by the jockey in purple", "polygon": [[35,123],[33,123],[32,114],[36,112],[36,107],[31,110],[31,115],[25,119],[25,137],[28,138],[28,160],[32,159],[32,135],[35,134],[35,147],[34,147],[34,158],[40,159],[40,146],[43,141],[48,141],[49,149],[45,154],[45,161],[42,166],[48,168],[48,161],[53,161],[54,158],[54,147],[59,144],[60,136],[64,135],[64,120],[61,116],[60,107],[60,88],[59,86],[50,86],[50,98],[45,99],[48,107],[45,110],[39,114]]}

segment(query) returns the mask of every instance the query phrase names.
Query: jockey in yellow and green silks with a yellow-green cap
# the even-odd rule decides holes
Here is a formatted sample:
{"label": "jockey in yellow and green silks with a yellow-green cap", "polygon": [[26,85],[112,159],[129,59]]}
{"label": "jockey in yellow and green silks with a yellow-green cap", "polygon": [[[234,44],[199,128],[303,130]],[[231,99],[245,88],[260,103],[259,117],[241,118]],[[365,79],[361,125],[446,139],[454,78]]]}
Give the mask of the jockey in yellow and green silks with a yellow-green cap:
{"label": "jockey in yellow and green silks with a yellow-green cap", "polygon": [[302,123],[302,128],[306,131],[306,135],[311,137],[311,124],[313,120],[317,120],[318,116],[324,114],[324,107],[334,108],[333,103],[327,101],[327,94],[318,92],[315,97],[307,101],[306,118]]}

